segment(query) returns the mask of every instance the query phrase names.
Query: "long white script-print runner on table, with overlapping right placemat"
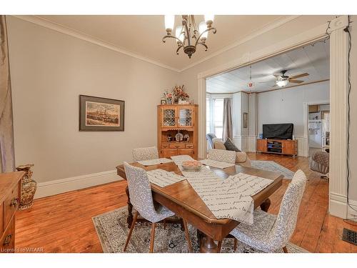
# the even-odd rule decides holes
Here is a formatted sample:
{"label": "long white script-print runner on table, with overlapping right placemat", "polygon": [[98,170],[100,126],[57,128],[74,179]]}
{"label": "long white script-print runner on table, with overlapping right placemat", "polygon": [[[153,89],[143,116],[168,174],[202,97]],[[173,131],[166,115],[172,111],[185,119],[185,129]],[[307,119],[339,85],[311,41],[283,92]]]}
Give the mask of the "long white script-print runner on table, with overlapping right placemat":
{"label": "long white script-print runner on table, with overlapping right placemat", "polygon": [[271,184],[271,179],[243,173],[222,179],[209,167],[202,167],[199,172],[186,172],[181,164],[191,160],[191,157],[178,156],[171,159],[217,219],[228,218],[253,224],[254,202],[251,196]]}

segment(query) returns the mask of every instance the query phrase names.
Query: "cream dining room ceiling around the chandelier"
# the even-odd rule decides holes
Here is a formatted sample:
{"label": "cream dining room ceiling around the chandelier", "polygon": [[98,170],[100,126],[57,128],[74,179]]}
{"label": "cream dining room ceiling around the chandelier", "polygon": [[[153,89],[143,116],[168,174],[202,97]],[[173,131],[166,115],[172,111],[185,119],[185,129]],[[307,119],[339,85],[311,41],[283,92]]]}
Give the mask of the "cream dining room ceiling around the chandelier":
{"label": "cream dining room ceiling around the chandelier", "polygon": [[[162,42],[162,38],[166,34],[163,15],[51,15],[37,17],[117,46],[131,54],[159,62],[171,69],[182,70],[226,46],[234,44],[264,27],[286,20],[290,16],[217,15],[213,22],[217,33],[209,33],[206,41],[208,51],[204,51],[200,47],[191,59],[188,59],[188,56],[182,51],[180,55],[176,55],[177,46],[174,39],[167,40],[165,44]],[[203,16],[198,15],[195,18],[198,23],[203,21]],[[180,16],[176,16],[175,27],[179,24],[179,19]]]}

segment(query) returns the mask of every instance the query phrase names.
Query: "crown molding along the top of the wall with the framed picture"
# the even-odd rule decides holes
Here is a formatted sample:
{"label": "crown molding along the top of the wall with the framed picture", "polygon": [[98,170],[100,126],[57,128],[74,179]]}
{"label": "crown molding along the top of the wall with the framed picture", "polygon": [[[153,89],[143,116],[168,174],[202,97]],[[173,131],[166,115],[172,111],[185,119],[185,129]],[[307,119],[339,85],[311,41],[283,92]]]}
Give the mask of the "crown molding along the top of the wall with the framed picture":
{"label": "crown molding along the top of the wall with the framed picture", "polygon": [[169,69],[171,71],[176,71],[176,72],[180,71],[179,69],[176,69],[176,68],[171,67],[169,65],[163,64],[163,63],[161,63],[159,61],[155,61],[153,59],[149,59],[149,58],[147,58],[145,56],[141,56],[141,55],[136,54],[134,52],[128,51],[128,50],[126,50],[126,49],[124,49],[124,48],[122,48],[120,46],[116,46],[116,45],[111,44],[111,43],[109,43],[107,41],[103,41],[101,39],[97,39],[97,38],[95,38],[93,36],[90,36],[88,34],[84,34],[81,31],[76,31],[74,29],[70,29],[70,28],[68,28],[66,26],[63,26],[61,24],[56,24],[56,23],[54,23],[52,21],[49,21],[47,19],[40,18],[39,16],[34,16],[34,15],[11,15],[11,16],[14,16],[17,19],[22,19],[24,21],[31,22],[33,24],[37,24],[39,26],[46,27],[46,28],[54,30],[54,31],[58,31],[61,34],[67,34],[67,35],[75,37],[77,39],[81,39],[81,40],[87,41],[89,43],[96,44],[98,46],[103,46],[106,49],[110,49],[112,51],[116,51],[116,52],[119,52],[121,54],[126,54],[128,56],[132,56],[132,57],[134,57],[136,59],[140,59],[141,61],[146,61],[146,62],[149,62],[151,64],[155,64],[157,66],[163,67],[165,69]]}

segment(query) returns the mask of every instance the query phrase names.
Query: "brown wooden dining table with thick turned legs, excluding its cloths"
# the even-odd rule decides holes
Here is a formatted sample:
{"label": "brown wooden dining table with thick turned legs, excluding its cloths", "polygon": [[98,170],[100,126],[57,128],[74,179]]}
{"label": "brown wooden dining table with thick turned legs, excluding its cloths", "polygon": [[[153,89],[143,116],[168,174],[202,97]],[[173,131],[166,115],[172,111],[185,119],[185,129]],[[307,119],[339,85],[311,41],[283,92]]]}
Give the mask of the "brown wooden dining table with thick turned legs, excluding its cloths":
{"label": "brown wooden dining table with thick turned legs, excluding its cloths", "polygon": [[[181,170],[174,162],[154,164],[148,167],[143,166],[138,162],[130,164],[135,167],[141,167],[146,171],[164,169],[167,172],[175,172],[178,175],[182,175]],[[229,176],[233,176],[238,173],[271,179],[273,181],[271,184],[268,184],[266,188],[252,196],[254,209],[261,207],[261,209],[265,212],[268,211],[271,204],[269,197],[271,194],[276,192],[279,187],[281,187],[283,181],[283,175],[277,172],[266,171],[263,169],[253,169],[251,167],[242,167],[240,165],[234,165],[225,169],[215,167],[210,167],[210,169],[222,179],[226,179]],[[117,166],[116,170],[120,177],[126,179],[123,164]],[[176,214],[177,217],[186,219],[189,224],[196,227],[198,243],[200,244],[200,252],[219,252],[216,242],[221,242],[239,224],[239,222],[233,219],[217,219],[186,179],[181,182],[170,184],[166,187],[159,187],[158,185],[151,183],[151,191],[154,202],[158,202],[164,207],[170,209]],[[128,227],[130,227],[131,222],[133,221],[133,206],[130,203],[128,187],[126,187],[126,195],[128,197],[127,223]]]}

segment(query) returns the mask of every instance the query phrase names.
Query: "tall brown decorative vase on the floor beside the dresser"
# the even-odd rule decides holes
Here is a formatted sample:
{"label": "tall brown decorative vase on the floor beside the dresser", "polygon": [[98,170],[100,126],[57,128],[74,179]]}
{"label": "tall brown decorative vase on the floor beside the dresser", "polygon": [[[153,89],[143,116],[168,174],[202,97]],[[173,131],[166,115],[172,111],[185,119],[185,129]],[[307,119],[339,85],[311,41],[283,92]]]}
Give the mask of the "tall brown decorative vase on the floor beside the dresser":
{"label": "tall brown decorative vase on the floor beside the dresser", "polygon": [[37,189],[37,182],[34,179],[31,179],[31,167],[34,167],[34,164],[25,164],[16,167],[17,171],[25,172],[24,177],[22,177],[21,179],[21,196],[19,210],[29,209],[30,207],[32,207],[34,201],[34,195]]}

